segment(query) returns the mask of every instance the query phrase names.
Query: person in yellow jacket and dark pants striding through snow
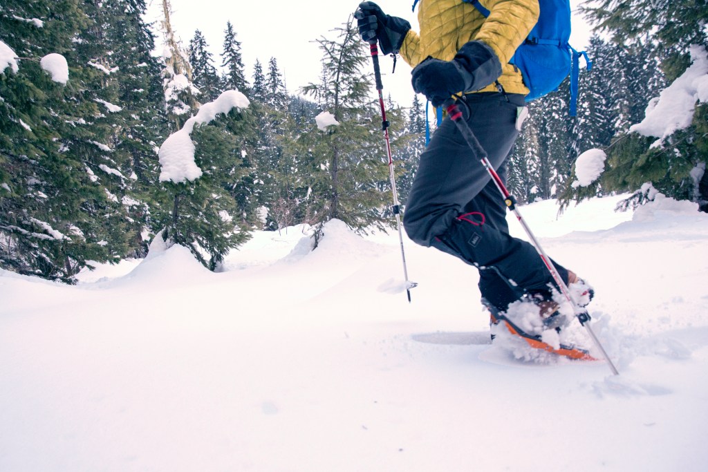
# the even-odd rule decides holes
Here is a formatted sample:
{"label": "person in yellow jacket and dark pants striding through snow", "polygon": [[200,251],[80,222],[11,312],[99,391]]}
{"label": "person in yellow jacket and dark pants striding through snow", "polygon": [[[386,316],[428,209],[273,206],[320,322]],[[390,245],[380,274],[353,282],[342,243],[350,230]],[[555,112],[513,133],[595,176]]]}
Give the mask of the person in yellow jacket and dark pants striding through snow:
{"label": "person in yellow jacket and dark pants striding through snow", "polygon": [[[520,71],[508,62],[537,21],[538,1],[490,0],[488,17],[462,0],[416,4],[420,33],[374,2],[363,2],[355,13],[362,39],[376,40],[382,54],[400,54],[413,67],[413,89],[433,106],[457,96],[464,120],[506,180],[506,160],[529,92]],[[404,228],[414,242],[479,269],[482,303],[493,321],[516,301],[538,306],[547,326],[560,328],[568,321],[554,300],[558,287],[552,275],[530,243],[510,236],[503,199],[452,120],[442,121],[421,154]],[[589,285],[553,263],[585,306],[593,296]]]}

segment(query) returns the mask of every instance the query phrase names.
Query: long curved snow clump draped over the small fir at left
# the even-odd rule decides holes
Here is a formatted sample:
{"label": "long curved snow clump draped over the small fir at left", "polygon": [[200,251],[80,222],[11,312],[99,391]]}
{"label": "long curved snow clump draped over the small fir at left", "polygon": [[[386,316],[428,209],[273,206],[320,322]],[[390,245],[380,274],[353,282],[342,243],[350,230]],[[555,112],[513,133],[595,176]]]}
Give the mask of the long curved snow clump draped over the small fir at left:
{"label": "long curved snow clump draped over the small fir at left", "polygon": [[232,108],[244,110],[248,107],[249,99],[235,90],[225,91],[213,102],[202,105],[197,115],[187,120],[182,129],[171,134],[160,146],[160,182],[183,183],[200,178],[202,169],[194,161],[195,146],[191,137],[194,127],[205,125],[220,113],[229,113]]}

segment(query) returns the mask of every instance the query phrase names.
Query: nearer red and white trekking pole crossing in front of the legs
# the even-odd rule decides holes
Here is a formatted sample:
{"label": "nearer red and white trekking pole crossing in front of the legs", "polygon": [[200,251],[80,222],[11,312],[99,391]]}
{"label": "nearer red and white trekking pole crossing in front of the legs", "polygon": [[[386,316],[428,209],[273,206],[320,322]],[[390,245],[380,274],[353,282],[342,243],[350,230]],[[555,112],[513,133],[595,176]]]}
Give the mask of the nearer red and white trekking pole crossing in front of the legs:
{"label": "nearer red and white trekking pole crossing in front of the legs", "polygon": [[593,340],[593,343],[595,343],[595,346],[598,347],[598,350],[602,352],[603,357],[605,357],[605,360],[607,361],[607,365],[609,365],[610,370],[612,371],[612,374],[619,375],[615,364],[612,364],[610,356],[607,355],[605,348],[602,344],[600,344],[600,340],[597,336],[595,336],[593,328],[590,327],[590,315],[588,314],[588,311],[578,308],[578,302],[573,298],[573,295],[571,294],[566,283],[563,282],[563,279],[558,273],[558,270],[556,270],[556,267],[553,265],[551,259],[544,252],[536,236],[534,236],[530,227],[526,224],[525,219],[523,219],[523,217],[521,216],[519,209],[516,207],[516,199],[506,189],[506,185],[504,185],[503,181],[499,177],[499,174],[496,173],[496,171],[492,167],[491,162],[489,162],[489,157],[487,156],[486,151],[484,151],[484,148],[481,146],[481,144],[479,144],[479,141],[477,140],[476,136],[474,136],[472,129],[470,129],[469,125],[467,125],[467,122],[464,120],[464,117],[462,116],[462,111],[459,110],[457,103],[454,99],[450,99],[442,106],[447,110],[447,115],[450,116],[450,119],[455,122],[455,125],[457,125],[457,129],[459,129],[459,132],[464,137],[464,140],[467,141],[467,144],[469,144],[470,149],[472,149],[472,154],[474,154],[474,156],[481,161],[482,166],[484,166],[486,171],[491,176],[491,179],[496,185],[496,188],[498,188],[499,192],[501,192],[501,195],[504,198],[504,203],[506,204],[508,209],[513,212],[516,219],[519,220],[519,223],[523,227],[524,231],[526,231],[526,234],[531,240],[531,243],[536,249],[536,252],[539,256],[541,256],[544,265],[549,270],[549,272],[551,272],[553,280],[555,280],[556,284],[558,284],[558,287],[561,289],[561,292],[563,293],[564,297],[566,298],[568,303],[571,304],[571,306],[573,307],[573,313],[575,313],[576,318],[578,318],[578,321],[580,321],[581,326],[586,328],[590,339]]}

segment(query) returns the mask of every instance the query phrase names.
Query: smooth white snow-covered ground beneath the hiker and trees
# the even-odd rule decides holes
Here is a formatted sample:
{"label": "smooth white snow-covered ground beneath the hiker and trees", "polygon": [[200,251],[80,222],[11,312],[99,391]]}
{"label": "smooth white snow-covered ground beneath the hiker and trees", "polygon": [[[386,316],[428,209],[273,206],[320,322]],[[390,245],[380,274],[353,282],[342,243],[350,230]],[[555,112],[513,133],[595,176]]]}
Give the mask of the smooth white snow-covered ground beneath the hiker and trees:
{"label": "smooth white snow-covered ground beneath the hiker and trees", "polygon": [[708,215],[617,200],[522,212],[619,376],[489,345],[474,269],[406,243],[409,304],[397,235],[336,221],[216,274],[179,246],[76,287],[0,272],[0,470],[708,470]]}

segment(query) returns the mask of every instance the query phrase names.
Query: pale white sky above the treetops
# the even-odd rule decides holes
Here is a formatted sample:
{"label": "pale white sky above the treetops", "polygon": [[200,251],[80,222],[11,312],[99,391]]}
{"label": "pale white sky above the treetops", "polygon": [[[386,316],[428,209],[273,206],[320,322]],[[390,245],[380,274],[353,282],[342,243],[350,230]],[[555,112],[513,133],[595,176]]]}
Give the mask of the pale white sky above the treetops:
{"label": "pale white sky above the treetops", "polygon": [[[162,1],[148,0],[147,3],[148,21],[161,18]],[[410,21],[418,30],[418,9],[415,13],[411,11],[413,0],[377,0],[376,3],[389,15]],[[580,0],[571,0],[573,8],[580,3]],[[224,30],[227,21],[231,21],[236,39],[241,42],[246,79],[252,81],[256,59],[267,69],[270,57],[275,57],[288,91],[299,93],[300,87],[319,80],[322,54],[314,41],[323,35],[333,38],[331,30],[344,23],[358,4],[358,0],[171,0],[171,21],[185,47],[195,30],[200,30],[215,62],[220,61]],[[590,36],[584,23],[582,18],[573,18],[571,45],[578,50],[586,46]],[[160,35],[157,38],[159,51],[161,44]],[[384,95],[390,93],[397,103],[410,106],[413,100],[411,67],[399,59],[396,72],[391,75],[392,59],[383,57],[381,65]]]}

